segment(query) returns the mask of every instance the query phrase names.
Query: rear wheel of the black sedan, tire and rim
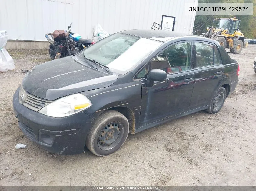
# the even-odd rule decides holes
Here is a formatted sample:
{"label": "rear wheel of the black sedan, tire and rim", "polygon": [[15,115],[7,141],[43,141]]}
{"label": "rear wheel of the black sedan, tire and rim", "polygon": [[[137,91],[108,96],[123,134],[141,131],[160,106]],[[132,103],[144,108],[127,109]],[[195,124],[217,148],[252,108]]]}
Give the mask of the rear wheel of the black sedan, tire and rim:
{"label": "rear wheel of the black sedan, tire and rim", "polygon": [[226,97],[227,97],[226,89],[223,87],[220,87],[213,95],[211,99],[211,103],[206,111],[211,114],[218,113],[219,110],[221,110],[226,100]]}

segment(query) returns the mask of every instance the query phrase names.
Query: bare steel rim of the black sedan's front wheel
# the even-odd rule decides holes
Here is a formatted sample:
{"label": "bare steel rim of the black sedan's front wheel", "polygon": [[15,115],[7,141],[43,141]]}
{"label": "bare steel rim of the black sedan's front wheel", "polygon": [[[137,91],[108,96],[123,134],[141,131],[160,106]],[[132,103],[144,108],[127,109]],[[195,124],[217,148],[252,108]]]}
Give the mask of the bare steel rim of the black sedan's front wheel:
{"label": "bare steel rim of the black sedan's front wheel", "polygon": [[124,134],[123,125],[119,122],[108,123],[101,129],[98,135],[98,147],[102,150],[110,150],[120,143]]}

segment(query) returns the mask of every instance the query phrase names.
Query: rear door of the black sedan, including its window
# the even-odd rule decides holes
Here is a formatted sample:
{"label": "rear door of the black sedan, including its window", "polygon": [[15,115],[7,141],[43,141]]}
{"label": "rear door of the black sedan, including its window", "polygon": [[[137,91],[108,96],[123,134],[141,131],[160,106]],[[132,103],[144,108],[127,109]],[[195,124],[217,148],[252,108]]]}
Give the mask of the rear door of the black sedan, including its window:
{"label": "rear door of the black sedan, including its window", "polygon": [[195,84],[190,109],[207,106],[214,92],[223,80],[224,67],[219,49],[207,42],[194,42],[196,54],[194,62]]}

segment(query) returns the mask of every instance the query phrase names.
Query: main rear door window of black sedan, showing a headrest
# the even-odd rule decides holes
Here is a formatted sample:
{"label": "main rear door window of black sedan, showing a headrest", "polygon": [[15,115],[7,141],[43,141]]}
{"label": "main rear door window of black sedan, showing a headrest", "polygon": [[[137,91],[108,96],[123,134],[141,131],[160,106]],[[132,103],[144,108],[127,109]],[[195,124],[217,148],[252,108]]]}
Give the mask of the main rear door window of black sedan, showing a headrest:
{"label": "main rear door window of black sedan, showing a headrest", "polygon": [[196,47],[196,67],[213,65],[213,45],[208,43],[195,43]]}

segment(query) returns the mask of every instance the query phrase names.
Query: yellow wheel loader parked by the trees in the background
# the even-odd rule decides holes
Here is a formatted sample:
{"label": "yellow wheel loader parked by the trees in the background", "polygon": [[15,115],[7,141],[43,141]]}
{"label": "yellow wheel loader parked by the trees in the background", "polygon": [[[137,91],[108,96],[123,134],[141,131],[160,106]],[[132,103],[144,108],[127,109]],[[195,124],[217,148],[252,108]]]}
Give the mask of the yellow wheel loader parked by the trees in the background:
{"label": "yellow wheel loader parked by the trees in the background", "polygon": [[243,48],[248,46],[248,42],[244,41],[244,35],[238,29],[240,20],[236,18],[216,18],[213,22],[216,27],[207,27],[208,32],[202,36],[211,38],[220,43],[224,48],[230,49],[231,53],[239,54]]}

